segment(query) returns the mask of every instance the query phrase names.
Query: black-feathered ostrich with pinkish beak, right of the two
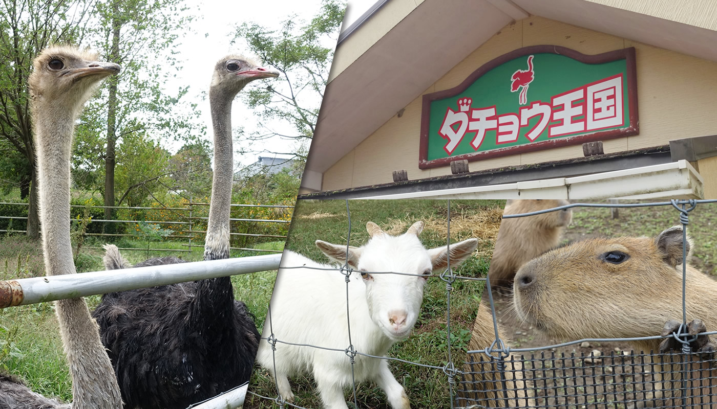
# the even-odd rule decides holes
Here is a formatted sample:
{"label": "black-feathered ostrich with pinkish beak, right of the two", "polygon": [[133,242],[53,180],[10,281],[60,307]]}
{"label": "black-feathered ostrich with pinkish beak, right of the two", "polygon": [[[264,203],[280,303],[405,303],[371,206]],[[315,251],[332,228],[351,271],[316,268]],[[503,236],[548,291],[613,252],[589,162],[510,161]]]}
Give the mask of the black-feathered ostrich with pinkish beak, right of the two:
{"label": "black-feathered ostrich with pinkish beak, right of the two", "polygon": [[[214,68],[214,180],[204,260],[229,258],[232,100],[252,80],[278,75],[235,55]],[[105,249],[107,269],[130,267],[116,246]],[[136,266],[180,262],[161,257]],[[234,300],[229,277],[105,294],[94,317],[127,408],[184,409],[247,382],[260,340],[247,307]]]}

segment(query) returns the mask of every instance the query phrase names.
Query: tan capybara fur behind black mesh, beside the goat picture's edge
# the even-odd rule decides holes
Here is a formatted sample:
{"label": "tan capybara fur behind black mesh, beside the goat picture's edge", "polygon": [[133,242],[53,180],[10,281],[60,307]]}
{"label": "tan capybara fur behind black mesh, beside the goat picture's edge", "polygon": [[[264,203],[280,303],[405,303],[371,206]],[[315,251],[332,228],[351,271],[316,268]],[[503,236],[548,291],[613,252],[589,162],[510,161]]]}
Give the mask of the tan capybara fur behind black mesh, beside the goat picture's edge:
{"label": "tan capybara fur behind black mesh, beside the goat picture's edge", "polygon": [[[498,336],[508,345],[509,339],[500,324]],[[495,329],[490,304],[483,301],[478,306],[478,314],[473,322],[468,350],[485,350],[494,341]],[[496,344],[494,349],[498,347]],[[497,353],[491,355],[498,356]],[[495,361],[491,362],[485,352],[468,355],[463,365],[463,383],[458,388],[459,405],[467,408],[532,408],[535,403],[531,388],[526,388],[529,381],[523,380],[523,362],[512,354],[505,357],[504,362],[505,384]]]}

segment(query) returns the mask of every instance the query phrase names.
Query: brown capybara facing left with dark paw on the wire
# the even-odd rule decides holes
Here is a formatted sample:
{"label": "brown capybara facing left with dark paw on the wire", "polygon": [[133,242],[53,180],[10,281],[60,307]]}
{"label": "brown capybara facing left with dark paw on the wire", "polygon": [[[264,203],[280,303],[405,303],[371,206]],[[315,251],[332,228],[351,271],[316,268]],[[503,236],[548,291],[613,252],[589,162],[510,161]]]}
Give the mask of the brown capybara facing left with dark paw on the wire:
{"label": "brown capybara facing left with dark paw on the wire", "polygon": [[[689,240],[686,246],[687,322],[701,319],[711,331],[717,329],[717,282],[690,266]],[[683,320],[682,264],[682,226],[651,238],[579,241],[523,265],[513,282],[513,305],[519,318],[550,337],[581,340],[660,335],[668,320]],[[657,352],[659,345],[659,339],[632,342],[634,350],[646,353]],[[682,405],[681,393],[668,390],[682,384],[681,360],[683,355],[675,353],[658,364],[663,383],[658,383],[652,405]],[[711,362],[692,362],[690,372],[693,377],[717,376]],[[659,374],[653,376],[660,381]],[[717,408],[717,403],[711,403],[717,385],[704,380],[692,386],[695,389],[688,392],[688,404]],[[698,394],[712,399],[693,398]]]}

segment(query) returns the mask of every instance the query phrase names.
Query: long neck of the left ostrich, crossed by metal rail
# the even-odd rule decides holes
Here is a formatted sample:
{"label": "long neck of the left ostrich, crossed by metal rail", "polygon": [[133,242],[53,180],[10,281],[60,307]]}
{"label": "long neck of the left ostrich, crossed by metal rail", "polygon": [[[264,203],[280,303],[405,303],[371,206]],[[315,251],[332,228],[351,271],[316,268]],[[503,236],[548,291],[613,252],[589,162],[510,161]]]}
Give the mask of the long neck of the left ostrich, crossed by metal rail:
{"label": "long neck of the left ostrich, crossed by metal rail", "polygon": [[[70,244],[70,149],[77,112],[67,109],[34,110],[42,245],[48,276],[76,272]],[[61,299],[55,307],[72,376],[72,408],[122,408],[115,372],[85,300]]]}

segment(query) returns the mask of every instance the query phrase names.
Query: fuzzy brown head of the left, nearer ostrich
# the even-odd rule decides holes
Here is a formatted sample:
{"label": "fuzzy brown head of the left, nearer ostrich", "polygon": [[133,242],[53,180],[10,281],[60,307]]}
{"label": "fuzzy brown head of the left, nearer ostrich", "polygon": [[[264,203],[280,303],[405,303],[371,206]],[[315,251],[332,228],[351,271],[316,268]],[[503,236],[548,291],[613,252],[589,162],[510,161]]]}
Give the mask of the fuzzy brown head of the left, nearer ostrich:
{"label": "fuzzy brown head of the left, nearer ostrich", "polygon": [[98,62],[97,57],[75,47],[44,49],[28,80],[33,105],[69,109],[77,115],[100,80],[120,71],[118,64]]}

